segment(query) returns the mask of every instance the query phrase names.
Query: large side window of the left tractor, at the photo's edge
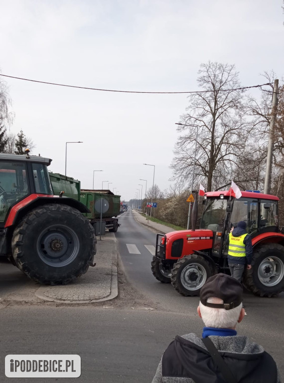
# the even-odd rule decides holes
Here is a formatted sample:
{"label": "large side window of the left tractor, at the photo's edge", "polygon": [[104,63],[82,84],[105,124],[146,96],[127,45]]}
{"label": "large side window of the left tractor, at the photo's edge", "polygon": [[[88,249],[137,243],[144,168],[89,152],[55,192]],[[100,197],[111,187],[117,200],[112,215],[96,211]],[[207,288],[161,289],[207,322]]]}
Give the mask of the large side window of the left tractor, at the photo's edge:
{"label": "large side window of the left tractor, at the photo's edge", "polygon": [[29,194],[26,165],[0,162],[0,222],[4,222],[10,206]]}

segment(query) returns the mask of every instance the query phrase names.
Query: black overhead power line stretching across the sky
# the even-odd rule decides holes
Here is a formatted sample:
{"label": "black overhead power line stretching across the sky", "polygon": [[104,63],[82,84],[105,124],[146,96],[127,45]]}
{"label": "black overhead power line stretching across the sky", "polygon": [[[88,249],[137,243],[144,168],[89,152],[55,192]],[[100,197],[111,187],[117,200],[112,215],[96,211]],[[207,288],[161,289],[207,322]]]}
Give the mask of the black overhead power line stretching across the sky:
{"label": "black overhead power line stretching across the sky", "polygon": [[[115,90],[115,89],[100,89],[100,88],[89,88],[86,86],[76,86],[76,85],[66,85],[66,84],[57,84],[55,82],[47,82],[47,81],[39,81],[39,80],[31,80],[29,78],[22,78],[22,77],[15,77],[15,76],[8,76],[7,74],[1,74],[0,76],[3,77],[9,77],[9,78],[15,78],[17,80],[24,80],[24,81],[31,81],[31,82],[37,82],[40,84],[48,84],[48,85],[57,85],[57,86],[66,86],[68,88],[78,88],[78,89],[88,89],[88,90],[99,90],[102,92],[119,92],[119,93],[147,93],[147,94],[181,94],[181,93],[208,93],[212,92],[211,90],[194,90],[194,91],[188,91],[188,92],[142,92],[142,91],[134,91],[134,90]],[[247,90],[250,88],[260,88],[264,85],[271,85],[270,83],[267,84],[261,84],[261,85],[252,85],[252,86],[243,86],[241,88],[233,88],[233,89],[219,89],[219,92],[231,92],[233,90]]]}

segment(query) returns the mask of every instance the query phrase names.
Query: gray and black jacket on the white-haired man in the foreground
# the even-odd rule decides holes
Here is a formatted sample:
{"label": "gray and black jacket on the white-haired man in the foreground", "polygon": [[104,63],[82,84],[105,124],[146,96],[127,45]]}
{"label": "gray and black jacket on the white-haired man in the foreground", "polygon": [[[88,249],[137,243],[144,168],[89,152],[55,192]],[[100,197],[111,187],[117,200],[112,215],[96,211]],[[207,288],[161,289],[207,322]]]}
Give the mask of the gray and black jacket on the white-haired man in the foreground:
{"label": "gray and black jacket on the white-haired man in the foreground", "polygon": [[[210,336],[210,339],[217,350],[222,353],[225,362],[238,382],[281,383],[279,371],[276,370],[276,367],[273,368],[274,361],[270,355],[265,353],[262,346],[251,343],[247,337],[238,335]],[[236,364],[234,363],[235,360],[237,361]],[[266,361],[266,366],[262,360]],[[210,372],[211,369],[216,369],[212,363],[213,360],[208,355],[205,345],[196,334],[191,333],[176,337],[175,341],[164,352],[152,383],[225,382],[222,378],[220,379],[220,375],[218,378],[214,371]],[[261,371],[262,369],[263,371]],[[257,371],[256,375],[254,375],[254,371]],[[272,380],[273,371],[275,371],[274,382]],[[189,377],[194,376],[194,374],[198,377],[195,380]],[[261,379],[257,375],[260,375]]]}

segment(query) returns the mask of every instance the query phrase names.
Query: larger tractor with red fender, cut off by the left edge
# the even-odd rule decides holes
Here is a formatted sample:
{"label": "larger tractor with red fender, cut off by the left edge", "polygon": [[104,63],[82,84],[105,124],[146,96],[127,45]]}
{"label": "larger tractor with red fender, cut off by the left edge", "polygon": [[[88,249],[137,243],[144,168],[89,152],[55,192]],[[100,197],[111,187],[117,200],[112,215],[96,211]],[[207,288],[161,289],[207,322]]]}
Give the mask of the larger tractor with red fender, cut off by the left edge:
{"label": "larger tractor with red fender, cut off by the left edge", "polygon": [[54,195],[50,163],[0,154],[0,255],[37,282],[67,284],[93,265],[96,236],[85,205]]}

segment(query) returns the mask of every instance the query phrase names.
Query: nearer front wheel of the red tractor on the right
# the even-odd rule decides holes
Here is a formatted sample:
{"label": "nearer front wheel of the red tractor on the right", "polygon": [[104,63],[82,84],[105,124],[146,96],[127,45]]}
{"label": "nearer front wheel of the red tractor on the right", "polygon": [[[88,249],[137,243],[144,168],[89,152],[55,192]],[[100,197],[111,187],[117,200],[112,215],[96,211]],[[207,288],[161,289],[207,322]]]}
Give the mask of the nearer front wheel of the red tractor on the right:
{"label": "nearer front wheel of the red tractor on the right", "polygon": [[179,294],[199,295],[206,280],[215,274],[215,268],[199,254],[179,258],[172,269],[171,284]]}

